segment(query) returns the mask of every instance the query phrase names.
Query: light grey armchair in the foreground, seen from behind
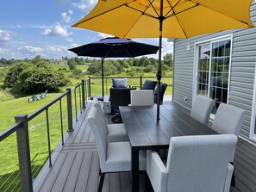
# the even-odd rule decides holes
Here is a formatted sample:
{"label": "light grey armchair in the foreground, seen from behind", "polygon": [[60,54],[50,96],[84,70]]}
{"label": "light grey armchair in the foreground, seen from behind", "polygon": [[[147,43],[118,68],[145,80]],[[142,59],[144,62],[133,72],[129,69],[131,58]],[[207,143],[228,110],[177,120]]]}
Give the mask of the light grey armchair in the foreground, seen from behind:
{"label": "light grey armchair in the foreground, seen from behind", "polygon": [[229,192],[234,167],[228,158],[237,137],[197,135],[172,137],[166,165],[147,151],[147,175],[155,192]]}

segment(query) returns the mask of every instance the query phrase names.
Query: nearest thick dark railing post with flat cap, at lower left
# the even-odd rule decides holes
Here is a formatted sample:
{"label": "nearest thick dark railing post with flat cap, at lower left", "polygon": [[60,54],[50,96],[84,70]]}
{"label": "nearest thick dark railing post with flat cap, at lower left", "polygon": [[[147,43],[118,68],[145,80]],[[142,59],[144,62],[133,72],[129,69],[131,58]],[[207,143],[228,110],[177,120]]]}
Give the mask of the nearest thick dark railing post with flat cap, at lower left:
{"label": "nearest thick dark railing post with flat cap, at lower left", "polygon": [[28,115],[17,115],[15,119],[16,123],[22,122],[22,127],[18,128],[16,131],[22,191],[33,192],[28,137]]}

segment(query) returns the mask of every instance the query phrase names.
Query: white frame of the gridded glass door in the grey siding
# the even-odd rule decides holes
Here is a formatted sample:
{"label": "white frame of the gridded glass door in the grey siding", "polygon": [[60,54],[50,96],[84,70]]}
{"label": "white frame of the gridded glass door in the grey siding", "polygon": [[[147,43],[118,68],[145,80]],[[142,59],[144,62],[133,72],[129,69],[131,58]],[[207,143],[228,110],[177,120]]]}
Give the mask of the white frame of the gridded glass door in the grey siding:
{"label": "white frame of the gridded glass door in the grey siding", "polygon": [[[232,49],[233,49],[233,34],[225,34],[220,37],[215,37],[212,39],[202,40],[198,41],[194,44],[194,71],[193,71],[193,91],[192,91],[192,102],[195,101],[195,98],[197,96],[197,78],[198,78],[198,60],[199,60],[199,46],[207,45],[209,44],[210,50],[212,50],[212,45],[215,42],[224,41],[224,40],[230,40],[230,55],[229,55],[229,69],[228,69],[228,96],[227,96],[227,104],[229,102],[229,90],[230,90],[230,74],[231,74],[231,59],[232,59]],[[210,64],[211,64],[212,55],[210,53]],[[209,74],[210,74],[209,69]],[[210,78],[210,75],[209,75]],[[209,91],[207,96],[209,97]],[[211,115],[210,119],[214,119],[215,115]]]}

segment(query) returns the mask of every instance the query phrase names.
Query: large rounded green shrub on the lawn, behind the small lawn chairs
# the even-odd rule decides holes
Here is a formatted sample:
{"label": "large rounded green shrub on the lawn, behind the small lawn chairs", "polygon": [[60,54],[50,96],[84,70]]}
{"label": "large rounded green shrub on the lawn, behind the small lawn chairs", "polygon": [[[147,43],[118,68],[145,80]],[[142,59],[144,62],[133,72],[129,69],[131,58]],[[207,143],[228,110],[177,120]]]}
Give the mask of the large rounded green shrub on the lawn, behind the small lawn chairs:
{"label": "large rounded green shrub on the lawn, behind the small lawn chairs", "polygon": [[32,64],[23,61],[13,65],[5,77],[4,86],[12,88],[14,94],[32,94],[45,90],[58,91],[68,83],[63,73],[53,69],[47,61]]}

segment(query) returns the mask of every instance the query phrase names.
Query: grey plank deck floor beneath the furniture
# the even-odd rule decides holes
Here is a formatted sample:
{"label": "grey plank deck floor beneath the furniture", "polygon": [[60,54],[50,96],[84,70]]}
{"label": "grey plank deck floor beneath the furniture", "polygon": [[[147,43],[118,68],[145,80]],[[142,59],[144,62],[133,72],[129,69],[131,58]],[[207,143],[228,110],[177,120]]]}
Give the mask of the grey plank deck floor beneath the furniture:
{"label": "grey plank deck floor beneath the furniture", "polygon": [[[99,181],[99,160],[97,146],[91,129],[87,126],[86,109],[79,117],[72,133],[66,133],[65,146],[59,145],[53,152],[53,166],[48,162],[34,181],[34,191],[86,191],[96,192]],[[164,104],[168,104],[165,102]],[[111,115],[106,115],[108,121]],[[236,147],[234,168],[236,186],[231,192],[256,192],[256,147],[239,139]],[[140,191],[144,191],[144,175],[141,174]],[[107,174],[103,184],[104,192],[130,192],[130,173]]]}

